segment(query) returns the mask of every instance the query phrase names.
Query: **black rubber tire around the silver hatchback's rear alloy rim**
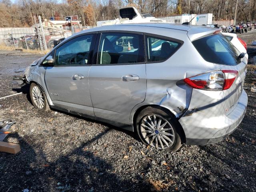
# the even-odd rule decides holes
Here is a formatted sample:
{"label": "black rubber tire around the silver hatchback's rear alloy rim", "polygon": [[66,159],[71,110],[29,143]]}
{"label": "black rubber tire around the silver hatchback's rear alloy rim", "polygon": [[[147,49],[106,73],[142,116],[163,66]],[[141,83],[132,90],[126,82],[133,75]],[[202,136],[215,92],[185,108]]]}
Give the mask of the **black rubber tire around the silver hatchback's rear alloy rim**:
{"label": "black rubber tire around the silver hatchback's rear alloy rim", "polygon": [[137,134],[138,134],[140,140],[142,140],[142,142],[144,144],[149,145],[149,142],[146,141],[142,135],[142,132],[140,129],[140,124],[146,116],[150,116],[150,115],[161,116],[162,118],[167,120],[170,123],[170,125],[172,126],[173,133],[174,133],[174,141],[169,148],[164,148],[164,150],[172,151],[172,152],[179,150],[180,147],[182,146],[181,133],[180,133],[179,126],[178,126],[176,120],[174,119],[174,117],[172,117],[170,114],[168,114],[158,108],[147,107],[147,108],[143,109],[138,114],[138,116],[136,118],[136,131],[137,131]]}

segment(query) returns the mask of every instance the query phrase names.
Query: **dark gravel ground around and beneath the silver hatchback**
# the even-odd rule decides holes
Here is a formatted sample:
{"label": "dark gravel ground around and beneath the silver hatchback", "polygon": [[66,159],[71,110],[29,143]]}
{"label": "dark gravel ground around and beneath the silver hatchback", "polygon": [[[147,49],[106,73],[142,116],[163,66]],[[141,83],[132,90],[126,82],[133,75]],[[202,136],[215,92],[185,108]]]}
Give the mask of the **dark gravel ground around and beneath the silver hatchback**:
{"label": "dark gravel ground around and beneath the silver hatchback", "polygon": [[0,100],[0,119],[17,121],[5,141],[21,147],[18,154],[0,153],[0,191],[256,191],[254,66],[245,80],[246,116],[232,135],[218,144],[166,152],[108,124],[36,110],[29,87],[18,87],[12,76],[38,57],[0,51],[0,97],[22,92]]}

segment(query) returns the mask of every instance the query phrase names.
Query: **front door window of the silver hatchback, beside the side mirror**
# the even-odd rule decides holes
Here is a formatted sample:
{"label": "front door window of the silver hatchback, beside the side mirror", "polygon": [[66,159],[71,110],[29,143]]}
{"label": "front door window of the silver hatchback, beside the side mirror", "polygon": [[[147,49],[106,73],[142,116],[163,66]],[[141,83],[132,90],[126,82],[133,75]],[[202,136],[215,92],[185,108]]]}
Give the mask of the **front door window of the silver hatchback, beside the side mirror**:
{"label": "front door window of the silver hatchback, beside the side mirror", "polygon": [[55,65],[57,66],[79,66],[86,65],[92,54],[93,34],[74,38],[56,50]]}

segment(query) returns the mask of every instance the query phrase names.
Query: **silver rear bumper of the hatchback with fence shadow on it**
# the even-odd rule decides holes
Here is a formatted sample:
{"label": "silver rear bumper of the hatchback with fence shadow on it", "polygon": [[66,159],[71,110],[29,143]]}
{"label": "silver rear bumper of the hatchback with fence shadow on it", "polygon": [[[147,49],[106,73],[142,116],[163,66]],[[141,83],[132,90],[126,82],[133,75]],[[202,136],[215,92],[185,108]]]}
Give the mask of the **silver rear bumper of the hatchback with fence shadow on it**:
{"label": "silver rear bumper of the hatchback with fence shadow on it", "polygon": [[227,116],[223,114],[216,118],[207,118],[204,111],[195,111],[190,115],[185,113],[179,122],[186,135],[186,144],[206,145],[224,140],[242,122],[246,113],[247,102],[247,94],[242,90],[236,107]]}

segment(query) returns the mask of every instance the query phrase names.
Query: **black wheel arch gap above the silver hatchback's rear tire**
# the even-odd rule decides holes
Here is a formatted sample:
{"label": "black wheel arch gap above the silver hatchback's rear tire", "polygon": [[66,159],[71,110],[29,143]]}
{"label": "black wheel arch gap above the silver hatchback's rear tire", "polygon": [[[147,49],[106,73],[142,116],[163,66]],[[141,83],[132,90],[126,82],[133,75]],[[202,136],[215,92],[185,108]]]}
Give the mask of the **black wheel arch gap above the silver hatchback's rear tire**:
{"label": "black wheel arch gap above the silver hatchback's rear tire", "polygon": [[169,114],[170,116],[172,116],[172,119],[174,119],[175,125],[178,127],[178,133],[180,134],[182,143],[186,143],[186,135],[185,135],[185,132],[184,132],[180,122],[178,121],[178,118],[168,108],[165,108],[163,106],[149,104],[149,105],[140,106],[138,109],[136,109],[136,111],[134,112],[134,115],[132,116],[132,124],[133,124],[135,130],[136,130],[136,118],[137,118],[138,114],[140,114],[140,112],[147,107],[160,109],[160,110],[166,112],[167,114]]}

